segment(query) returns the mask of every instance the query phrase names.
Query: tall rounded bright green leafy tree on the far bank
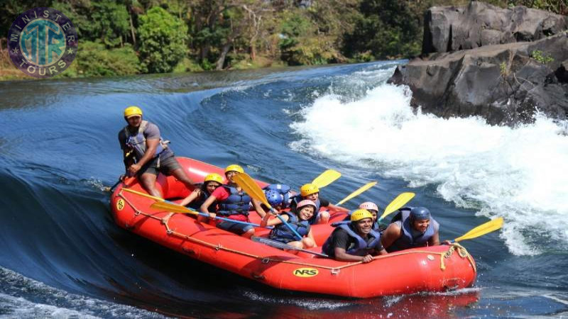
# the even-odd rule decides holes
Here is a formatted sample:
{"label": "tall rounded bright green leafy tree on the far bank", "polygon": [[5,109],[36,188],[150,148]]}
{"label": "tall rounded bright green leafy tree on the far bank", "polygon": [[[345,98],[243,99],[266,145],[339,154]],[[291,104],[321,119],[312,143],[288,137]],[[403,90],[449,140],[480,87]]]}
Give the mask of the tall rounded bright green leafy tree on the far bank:
{"label": "tall rounded bright green leafy tree on the far bank", "polygon": [[155,6],[139,17],[140,60],[148,72],[171,72],[185,56],[187,26]]}

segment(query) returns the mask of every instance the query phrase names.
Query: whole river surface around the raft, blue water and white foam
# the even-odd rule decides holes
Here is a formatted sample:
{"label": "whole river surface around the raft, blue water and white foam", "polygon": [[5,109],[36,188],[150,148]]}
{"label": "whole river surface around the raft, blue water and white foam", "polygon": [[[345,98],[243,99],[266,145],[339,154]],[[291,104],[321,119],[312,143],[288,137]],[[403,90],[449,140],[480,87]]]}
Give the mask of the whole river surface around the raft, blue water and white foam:
{"label": "whole river surface around the raft, blue water and white foam", "polygon": [[[0,83],[0,318],[568,316],[568,123],[506,128],[410,108],[392,62],[176,76]],[[413,191],[442,239],[463,242],[472,289],[365,300],[276,291],[122,230],[104,186],[123,172],[116,134],[138,105],[177,155],[384,207]],[[378,272],[388,269],[377,269]]]}

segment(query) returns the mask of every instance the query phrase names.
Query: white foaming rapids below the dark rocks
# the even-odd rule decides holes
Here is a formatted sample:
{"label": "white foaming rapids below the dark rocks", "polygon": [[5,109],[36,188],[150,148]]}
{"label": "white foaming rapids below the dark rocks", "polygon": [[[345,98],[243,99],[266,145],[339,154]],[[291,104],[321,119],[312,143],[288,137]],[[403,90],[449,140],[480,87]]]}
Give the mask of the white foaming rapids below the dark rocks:
{"label": "white foaming rapids below the dark rocks", "polygon": [[457,206],[503,216],[513,254],[539,254],[542,241],[568,249],[567,123],[537,115],[516,128],[484,119],[437,118],[410,107],[406,86],[380,84],[349,101],[330,91],[291,128],[299,152],[376,169],[412,187],[435,185]]}

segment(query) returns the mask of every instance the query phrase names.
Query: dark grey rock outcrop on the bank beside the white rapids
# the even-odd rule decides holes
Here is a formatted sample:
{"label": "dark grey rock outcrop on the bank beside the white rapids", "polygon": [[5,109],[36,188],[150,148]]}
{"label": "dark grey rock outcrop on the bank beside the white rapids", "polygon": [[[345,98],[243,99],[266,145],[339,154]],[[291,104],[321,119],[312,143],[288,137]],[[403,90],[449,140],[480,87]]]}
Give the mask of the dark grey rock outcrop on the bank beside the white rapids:
{"label": "dark grey rock outcrop on the bank beside the white rapids", "polygon": [[[480,11],[480,8],[484,9]],[[496,13],[491,13],[491,10]],[[389,82],[410,86],[413,106],[420,106],[422,111],[444,118],[482,116],[490,124],[506,125],[530,122],[536,111],[552,118],[567,118],[568,33],[560,30],[568,26],[566,17],[552,15],[554,19],[551,20],[550,13],[544,11],[524,7],[510,9],[511,12],[526,12],[528,16],[523,16],[525,22],[517,23],[514,28],[507,27],[501,33],[491,29],[496,31],[493,39],[499,39],[498,43],[507,39],[512,41],[486,45],[484,41],[491,43],[497,40],[480,40],[484,33],[475,31],[477,29],[471,26],[471,21],[497,26],[496,21],[488,21],[487,17],[493,16],[502,22],[502,16],[498,14],[502,11],[506,9],[479,2],[472,2],[467,9],[430,9],[430,12],[449,12],[449,18],[442,15],[438,16],[439,19],[445,17],[447,21],[470,21],[463,26],[450,24],[447,33],[434,36],[433,41],[443,46],[442,38],[447,35],[449,39],[454,39],[449,40],[447,48],[452,49],[456,43],[460,43],[458,47],[473,48],[422,55],[408,65],[399,66]],[[482,12],[484,18],[459,16],[466,12]],[[542,18],[546,16],[545,13],[549,18]],[[540,27],[527,21],[540,21]],[[546,29],[545,26],[551,27]],[[473,30],[470,36],[474,36],[471,38],[458,36],[451,31],[464,30],[466,27]],[[546,36],[542,32],[545,29],[553,30],[551,32],[555,35]],[[513,35],[515,32],[520,34],[520,30],[525,30],[523,34],[530,34],[534,41],[518,42],[519,38]],[[425,30],[427,32],[430,31]]]}

